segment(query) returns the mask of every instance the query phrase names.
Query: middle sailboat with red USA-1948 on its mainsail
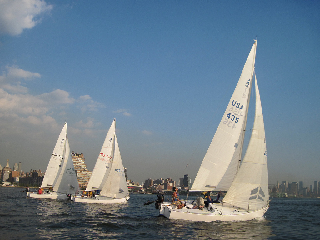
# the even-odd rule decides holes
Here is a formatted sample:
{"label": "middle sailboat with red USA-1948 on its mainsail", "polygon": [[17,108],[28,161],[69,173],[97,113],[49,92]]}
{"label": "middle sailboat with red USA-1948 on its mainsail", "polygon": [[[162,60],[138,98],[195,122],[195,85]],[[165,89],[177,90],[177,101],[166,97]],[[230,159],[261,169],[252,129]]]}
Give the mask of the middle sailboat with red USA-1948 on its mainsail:
{"label": "middle sailboat with red USA-1948 on its mainsail", "polygon": [[116,204],[130,198],[124,167],[116,138],[116,119],[113,120],[102,145],[86,191],[94,196],[73,196],[80,203]]}

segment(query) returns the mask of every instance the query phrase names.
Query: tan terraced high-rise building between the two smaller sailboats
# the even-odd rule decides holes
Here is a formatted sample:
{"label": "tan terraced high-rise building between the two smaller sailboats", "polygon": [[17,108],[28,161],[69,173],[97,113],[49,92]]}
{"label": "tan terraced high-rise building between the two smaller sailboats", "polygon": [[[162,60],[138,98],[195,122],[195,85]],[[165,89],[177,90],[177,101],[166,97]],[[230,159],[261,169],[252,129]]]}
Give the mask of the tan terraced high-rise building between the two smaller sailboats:
{"label": "tan terraced high-rise building between the two smaller sailboats", "polygon": [[84,163],[83,153],[78,154],[72,151],[71,157],[72,157],[73,165],[75,167],[79,188],[85,189],[88,185],[92,172],[88,171],[87,164]]}

